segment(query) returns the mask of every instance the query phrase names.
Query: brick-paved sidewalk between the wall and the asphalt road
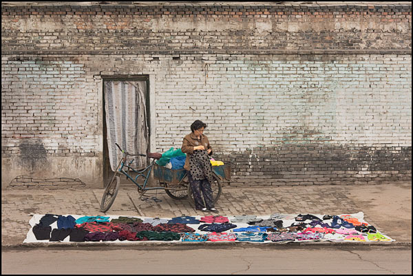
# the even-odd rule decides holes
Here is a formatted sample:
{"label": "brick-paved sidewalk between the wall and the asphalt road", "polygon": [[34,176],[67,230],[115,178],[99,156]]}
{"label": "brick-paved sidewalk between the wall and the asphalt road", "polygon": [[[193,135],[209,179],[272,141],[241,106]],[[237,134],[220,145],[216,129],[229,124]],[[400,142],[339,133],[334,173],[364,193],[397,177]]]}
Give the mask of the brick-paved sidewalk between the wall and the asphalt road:
{"label": "brick-paved sidewalk between the wall and the asphalt road", "polygon": [[[155,195],[155,191],[151,193]],[[105,213],[99,211],[102,194],[103,189],[3,189],[1,194],[2,247],[26,246],[22,242],[30,229],[30,213],[104,215]],[[175,217],[182,214],[205,215],[205,213],[195,211],[189,200],[173,200],[161,191],[158,191],[156,198],[162,201],[142,201],[139,199],[136,187],[121,184],[116,200],[106,214],[149,217]],[[411,246],[412,242],[411,182],[366,186],[311,185],[245,188],[224,186],[220,200],[215,207],[220,211],[220,215],[269,215],[271,213],[334,215],[362,211],[367,222],[396,240],[391,243],[393,246],[396,244]],[[42,244],[36,244],[36,246]],[[63,245],[58,244],[58,246]]]}

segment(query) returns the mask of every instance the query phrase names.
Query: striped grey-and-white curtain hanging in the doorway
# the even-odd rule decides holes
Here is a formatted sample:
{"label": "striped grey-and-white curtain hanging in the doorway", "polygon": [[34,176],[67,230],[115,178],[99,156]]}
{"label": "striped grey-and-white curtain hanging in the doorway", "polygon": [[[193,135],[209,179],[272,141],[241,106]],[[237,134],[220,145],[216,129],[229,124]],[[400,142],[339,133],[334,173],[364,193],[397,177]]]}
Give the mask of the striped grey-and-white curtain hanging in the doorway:
{"label": "striped grey-and-white curtain hanging in the doorway", "polygon": [[[105,112],[107,148],[112,171],[116,170],[122,152],[118,145],[129,153],[147,153],[148,126],[146,113],[145,81],[106,81]],[[134,156],[131,167],[143,168],[147,158]],[[131,159],[129,159],[131,160]]]}

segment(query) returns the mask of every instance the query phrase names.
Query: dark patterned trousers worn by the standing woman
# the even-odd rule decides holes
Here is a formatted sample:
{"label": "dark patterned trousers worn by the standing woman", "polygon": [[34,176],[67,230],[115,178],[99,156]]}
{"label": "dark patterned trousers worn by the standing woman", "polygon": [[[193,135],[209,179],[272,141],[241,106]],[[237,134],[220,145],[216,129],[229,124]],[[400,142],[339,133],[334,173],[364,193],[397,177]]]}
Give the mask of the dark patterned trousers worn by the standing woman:
{"label": "dark patterned trousers worn by the standing woman", "polygon": [[[208,180],[193,180],[190,171],[188,171],[188,178],[189,184],[191,185],[193,200],[195,200],[195,209],[200,210],[202,208],[213,208],[212,189]],[[204,200],[202,200],[201,193],[204,195]]]}

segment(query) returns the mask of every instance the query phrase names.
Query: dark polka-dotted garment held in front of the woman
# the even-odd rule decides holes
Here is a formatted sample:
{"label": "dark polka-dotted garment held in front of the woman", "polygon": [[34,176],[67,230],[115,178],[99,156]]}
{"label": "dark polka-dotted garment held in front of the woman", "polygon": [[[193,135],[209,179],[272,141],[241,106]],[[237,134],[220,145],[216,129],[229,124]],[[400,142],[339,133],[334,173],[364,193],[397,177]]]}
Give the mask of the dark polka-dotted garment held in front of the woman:
{"label": "dark polka-dotted garment held in front of the woman", "polygon": [[193,180],[207,179],[209,183],[213,182],[212,164],[209,161],[207,151],[196,149],[189,156],[189,167]]}

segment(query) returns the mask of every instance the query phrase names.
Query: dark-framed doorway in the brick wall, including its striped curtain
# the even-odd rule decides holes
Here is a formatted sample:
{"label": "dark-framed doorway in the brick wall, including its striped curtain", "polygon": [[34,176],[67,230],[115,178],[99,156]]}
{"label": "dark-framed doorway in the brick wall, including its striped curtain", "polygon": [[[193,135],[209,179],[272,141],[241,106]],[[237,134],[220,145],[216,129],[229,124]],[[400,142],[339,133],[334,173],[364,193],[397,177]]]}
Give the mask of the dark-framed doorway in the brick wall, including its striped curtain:
{"label": "dark-framed doorway in the brick wall, including its striped curtain", "polygon": [[[103,187],[122,158],[115,142],[129,153],[149,151],[147,76],[103,77]],[[136,156],[131,167],[146,165],[147,158]],[[125,178],[121,182],[130,183]]]}

